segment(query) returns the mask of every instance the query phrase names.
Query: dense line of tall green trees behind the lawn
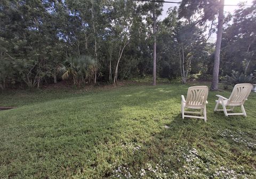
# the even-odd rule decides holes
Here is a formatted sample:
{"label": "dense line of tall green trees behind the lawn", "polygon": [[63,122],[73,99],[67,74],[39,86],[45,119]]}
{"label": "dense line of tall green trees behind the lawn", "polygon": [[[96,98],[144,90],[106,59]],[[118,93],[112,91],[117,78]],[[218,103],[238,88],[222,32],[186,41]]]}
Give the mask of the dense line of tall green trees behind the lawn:
{"label": "dense line of tall green trees behind the lawn", "polygon": [[[81,86],[152,75],[154,36],[157,76],[183,83],[191,74],[209,77],[215,48],[209,35],[217,28],[218,14],[214,2],[216,8],[205,3],[190,11],[181,5],[161,21],[163,3],[3,0],[0,88],[39,87],[61,78]],[[253,73],[256,7],[240,6],[224,21],[220,75]]]}

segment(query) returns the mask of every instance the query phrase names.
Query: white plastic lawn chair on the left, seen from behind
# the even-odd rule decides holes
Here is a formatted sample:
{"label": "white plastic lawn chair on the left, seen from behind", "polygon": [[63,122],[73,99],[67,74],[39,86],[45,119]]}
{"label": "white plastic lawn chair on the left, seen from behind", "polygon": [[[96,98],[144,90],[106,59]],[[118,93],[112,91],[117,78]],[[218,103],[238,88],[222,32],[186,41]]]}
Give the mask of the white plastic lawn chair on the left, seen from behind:
{"label": "white plastic lawn chair on the left, seen from behind", "polygon": [[[207,96],[208,96],[208,87],[207,86],[192,86],[188,88],[188,94],[187,99],[185,100],[185,97],[181,95],[181,113],[182,113],[182,119],[185,117],[189,118],[199,118],[204,119],[206,122],[206,104],[207,102]],[[185,108],[188,109],[199,109],[200,112],[196,111],[185,111]],[[190,116],[185,115],[185,113],[191,113],[195,115],[203,115],[204,116]]]}

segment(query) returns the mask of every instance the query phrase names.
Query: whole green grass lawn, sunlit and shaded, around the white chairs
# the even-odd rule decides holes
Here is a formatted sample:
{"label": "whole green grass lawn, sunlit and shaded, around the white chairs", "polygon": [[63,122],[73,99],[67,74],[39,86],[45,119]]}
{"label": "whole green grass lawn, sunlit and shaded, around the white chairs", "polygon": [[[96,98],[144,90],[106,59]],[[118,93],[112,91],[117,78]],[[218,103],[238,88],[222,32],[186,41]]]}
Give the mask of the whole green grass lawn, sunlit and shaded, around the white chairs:
{"label": "whole green grass lawn, sunlit and shaded, around the white chairs", "polygon": [[2,93],[0,178],[256,178],[256,93],[245,118],[210,92],[204,123],[181,118],[188,87]]}

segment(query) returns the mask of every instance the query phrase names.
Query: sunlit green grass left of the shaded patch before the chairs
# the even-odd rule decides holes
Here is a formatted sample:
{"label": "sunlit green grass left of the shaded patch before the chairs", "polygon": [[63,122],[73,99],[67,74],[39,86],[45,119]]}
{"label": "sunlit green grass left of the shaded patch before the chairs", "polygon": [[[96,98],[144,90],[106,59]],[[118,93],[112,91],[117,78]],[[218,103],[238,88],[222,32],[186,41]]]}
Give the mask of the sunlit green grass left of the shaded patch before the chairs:
{"label": "sunlit green grass left of the shaded patch before the chairs", "polygon": [[[49,95],[44,99],[50,97],[49,101],[38,100],[24,107],[2,111],[0,159],[4,162],[0,175],[68,177],[82,171],[86,176],[102,176],[109,167],[108,161],[112,161],[111,156],[118,153],[116,143],[121,139],[136,140],[126,133],[130,121],[136,125],[136,121],[141,117],[145,120],[148,113],[154,120],[153,107],[162,108],[162,99],[173,95],[159,94],[157,88],[132,88],[90,96],[69,96],[68,99],[51,99]],[[170,91],[169,86],[161,87],[162,92],[163,89]],[[145,127],[145,124],[142,121],[141,126]],[[142,135],[142,139],[147,137],[140,131],[131,134]],[[109,152],[106,148],[110,148]],[[102,160],[106,165],[101,165]]]}

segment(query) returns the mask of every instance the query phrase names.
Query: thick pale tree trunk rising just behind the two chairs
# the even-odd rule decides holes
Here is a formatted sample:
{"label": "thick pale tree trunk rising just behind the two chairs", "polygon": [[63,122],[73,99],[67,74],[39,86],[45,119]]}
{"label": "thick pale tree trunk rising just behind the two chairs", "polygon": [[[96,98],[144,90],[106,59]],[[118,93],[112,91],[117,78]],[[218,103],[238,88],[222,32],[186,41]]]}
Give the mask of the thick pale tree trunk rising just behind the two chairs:
{"label": "thick pale tree trunk rising just behind the two chairs", "polygon": [[224,1],[220,0],[220,9],[218,16],[218,32],[217,32],[217,41],[215,47],[214,54],[214,66],[213,66],[213,75],[212,75],[212,85],[211,90],[218,90],[219,83],[219,67],[220,67],[220,47],[221,47],[221,39],[222,39],[222,31],[223,31],[223,21],[224,21]]}

